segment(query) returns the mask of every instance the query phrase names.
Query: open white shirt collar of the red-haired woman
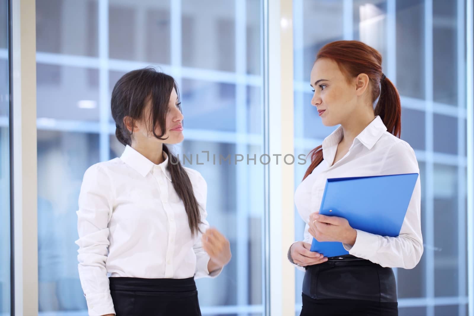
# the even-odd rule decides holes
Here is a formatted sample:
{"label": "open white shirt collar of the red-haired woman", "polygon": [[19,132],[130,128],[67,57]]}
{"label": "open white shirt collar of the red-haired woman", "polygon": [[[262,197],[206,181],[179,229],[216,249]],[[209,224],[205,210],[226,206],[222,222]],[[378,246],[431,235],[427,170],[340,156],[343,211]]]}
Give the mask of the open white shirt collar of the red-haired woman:
{"label": "open white shirt collar of the red-haired woman", "polygon": [[[363,144],[367,149],[372,149],[374,144],[382,137],[383,133],[387,130],[385,124],[383,124],[382,118],[376,116],[369,125],[367,125],[359,135],[356,136],[356,139]],[[337,129],[332,132],[328,137],[323,141],[323,155],[325,149],[339,144],[342,140],[343,131],[342,126],[337,127]]]}

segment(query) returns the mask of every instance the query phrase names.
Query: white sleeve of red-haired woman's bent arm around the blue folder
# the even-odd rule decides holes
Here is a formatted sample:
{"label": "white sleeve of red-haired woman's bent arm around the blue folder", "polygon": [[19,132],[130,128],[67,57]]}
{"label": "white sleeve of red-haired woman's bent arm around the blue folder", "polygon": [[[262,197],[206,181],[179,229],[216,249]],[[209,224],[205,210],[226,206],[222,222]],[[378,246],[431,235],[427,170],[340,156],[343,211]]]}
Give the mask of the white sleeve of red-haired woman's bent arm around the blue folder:
{"label": "white sleeve of red-haired woman's bent arm around the blue folder", "polygon": [[[387,152],[380,174],[419,173],[415,153],[401,141]],[[378,263],[383,267],[413,269],[423,254],[421,236],[421,185],[415,184],[400,235],[388,237],[357,230],[356,243],[344,247],[350,254]]]}

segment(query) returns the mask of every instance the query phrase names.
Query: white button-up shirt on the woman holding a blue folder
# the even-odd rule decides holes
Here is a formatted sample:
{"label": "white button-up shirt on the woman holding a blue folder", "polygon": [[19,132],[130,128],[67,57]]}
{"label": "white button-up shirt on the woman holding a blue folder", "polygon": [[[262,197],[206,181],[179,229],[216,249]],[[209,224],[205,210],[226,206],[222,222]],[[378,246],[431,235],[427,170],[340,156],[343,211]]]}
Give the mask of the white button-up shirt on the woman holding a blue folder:
{"label": "white button-up shirt on the woman holding a blue folder", "polygon": [[[379,116],[357,135],[346,155],[331,166],[337,144],[342,137],[343,130],[339,126],[324,139],[322,144],[324,160],[301,182],[295,192],[298,213],[306,222],[304,242],[309,244],[313,239],[308,231],[309,217],[311,213],[319,211],[328,178],[419,173],[413,149],[407,142],[387,132]],[[370,260],[383,267],[414,268],[423,253],[420,207],[421,188],[418,177],[398,237],[374,235],[357,230],[354,246],[344,244],[344,248],[356,257]],[[300,266],[297,267],[304,270]]]}

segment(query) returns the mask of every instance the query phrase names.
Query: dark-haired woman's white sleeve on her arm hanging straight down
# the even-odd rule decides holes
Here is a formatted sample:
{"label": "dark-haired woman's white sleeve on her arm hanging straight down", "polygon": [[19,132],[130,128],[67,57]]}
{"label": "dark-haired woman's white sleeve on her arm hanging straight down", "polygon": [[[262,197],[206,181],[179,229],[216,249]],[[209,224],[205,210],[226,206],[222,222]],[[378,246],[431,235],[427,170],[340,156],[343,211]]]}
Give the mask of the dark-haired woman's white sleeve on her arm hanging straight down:
{"label": "dark-haired woman's white sleeve on her arm hanging straight down", "polygon": [[76,212],[79,278],[90,316],[115,314],[105,267],[112,212],[111,185],[100,165],[92,165],[84,173]]}

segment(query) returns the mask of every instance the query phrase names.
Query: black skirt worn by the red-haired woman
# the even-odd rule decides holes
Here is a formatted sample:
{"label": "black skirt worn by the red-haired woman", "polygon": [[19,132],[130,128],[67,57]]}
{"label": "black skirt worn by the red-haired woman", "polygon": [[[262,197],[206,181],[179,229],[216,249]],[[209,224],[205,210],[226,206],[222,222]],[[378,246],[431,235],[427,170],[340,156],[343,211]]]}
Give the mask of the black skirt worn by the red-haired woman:
{"label": "black skirt worn by the red-haired woman", "polygon": [[300,316],[397,316],[392,268],[344,256],[306,267]]}

